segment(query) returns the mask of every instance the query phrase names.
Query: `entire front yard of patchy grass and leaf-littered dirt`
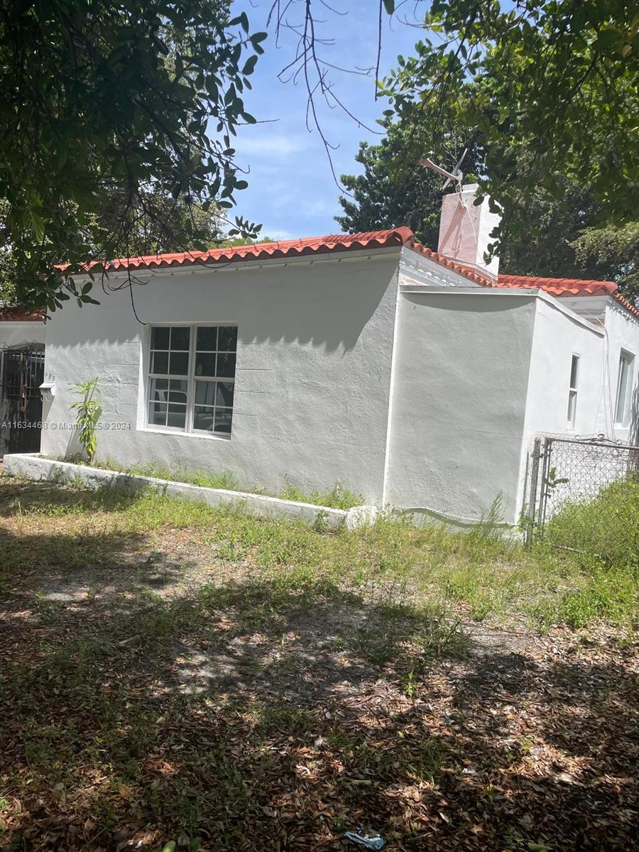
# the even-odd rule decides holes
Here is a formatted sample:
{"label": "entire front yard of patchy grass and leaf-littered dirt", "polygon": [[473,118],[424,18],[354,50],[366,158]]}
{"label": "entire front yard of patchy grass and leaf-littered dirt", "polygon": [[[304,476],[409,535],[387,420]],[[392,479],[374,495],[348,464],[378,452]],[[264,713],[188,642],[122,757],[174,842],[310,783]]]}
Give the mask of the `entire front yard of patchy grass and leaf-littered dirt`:
{"label": "entire front yard of patchy grass and leaf-littered dirt", "polygon": [[[424,848],[423,826],[439,832],[434,848],[501,849],[513,818],[504,800],[524,796],[521,813],[566,815],[556,834],[572,849],[574,799],[557,797],[573,792],[539,766],[559,749],[592,756],[596,815],[630,779],[617,762],[631,753],[636,682],[605,665],[602,646],[596,668],[573,636],[561,647],[578,650],[550,660],[467,653],[470,618],[516,619],[518,633],[526,618],[628,624],[627,565],[525,551],[487,525],[451,533],[383,516],[328,533],[9,477],[0,565],[9,849],[43,838],[69,852],[283,849],[291,838],[328,849],[367,824],[406,852]],[[511,696],[516,714],[504,711]],[[471,810],[469,842],[452,838],[447,826],[458,832]],[[624,819],[608,826],[622,837]],[[531,832],[527,846],[548,839]]]}

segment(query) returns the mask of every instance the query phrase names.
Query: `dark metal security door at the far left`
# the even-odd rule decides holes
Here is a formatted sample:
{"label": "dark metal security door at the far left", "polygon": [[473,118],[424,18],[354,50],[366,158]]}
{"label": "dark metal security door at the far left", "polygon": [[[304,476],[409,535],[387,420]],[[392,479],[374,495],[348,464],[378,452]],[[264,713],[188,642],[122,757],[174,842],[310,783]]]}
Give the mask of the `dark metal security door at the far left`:
{"label": "dark metal security door at the far left", "polygon": [[5,452],[38,452],[44,349],[6,349],[2,357],[0,455]]}

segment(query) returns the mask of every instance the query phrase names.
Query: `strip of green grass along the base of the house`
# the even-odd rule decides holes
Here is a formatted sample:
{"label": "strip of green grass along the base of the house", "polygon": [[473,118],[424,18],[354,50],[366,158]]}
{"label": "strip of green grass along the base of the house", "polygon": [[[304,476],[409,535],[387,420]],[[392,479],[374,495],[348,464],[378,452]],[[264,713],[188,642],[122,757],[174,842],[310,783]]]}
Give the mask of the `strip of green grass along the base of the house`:
{"label": "strip of green grass along the base of the house", "polygon": [[[621,538],[626,530],[627,539],[636,536],[639,522],[623,510],[617,532]],[[273,583],[263,613],[264,602],[251,602],[247,591],[246,609],[256,618],[274,617],[278,596],[285,607],[309,610],[320,592],[331,589],[389,607],[463,605],[473,619],[523,616],[544,628],[601,618],[630,625],[636,615],[636,554],[627,541],[617,541],[604,561],[544,544],[527,551],[481,530],[413,527],[389,516],[371,527],[326,533],[158,494],[131,497],[112,487],[89,491],[6,478],[0,480],[0,513],[7,521],[5,577],[34,559],[66,570],[110,564],[123,546],[153,549],[167,530],[185,530],[217,559],[241,562]],[[55,606],[41,602],[39,609],[44,621],[55,622]]]}

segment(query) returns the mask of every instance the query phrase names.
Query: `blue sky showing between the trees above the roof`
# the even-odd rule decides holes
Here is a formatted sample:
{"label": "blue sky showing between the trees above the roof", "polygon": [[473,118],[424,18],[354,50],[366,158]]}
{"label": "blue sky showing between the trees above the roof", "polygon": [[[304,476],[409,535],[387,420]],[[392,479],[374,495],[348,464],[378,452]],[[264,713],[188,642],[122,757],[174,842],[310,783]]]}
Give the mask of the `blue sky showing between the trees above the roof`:
{"label": "blue sky showing between the trees above the roof", "polygon": [[[338,66],[360,68],[374,66],[377,55],[377,0],[327,0],[320,37],[335,39],[334,46],[323,46],[326,60]],[[233,11],[245,10],[250,31],[265,30],[272,0],[236,0]],[[420,4],[421,5],[421,4]],[[316,0],[317,12],[320,2]],[[415,3],[406,3],[400,17],[414,21]],[[295,3],[289,13],[291,22],[299,20],[302,8]],[[421,10],[420,10],[421,13]],[[317,14],[317,13],[316,13]],[[400,20],[384,15],[383,49],[380,73],[396,66],[398,54],[410,55],[421,32]],[[250,170],[246,176],[249,188],[237,193],[236,211],[252,222],[262,222],[262,234],[274,239],[313,236],[339,231],[333,216],[340,213],[339,190],[331,176],[320,136],[308,133],[305,124],[306,89],[303,83],[281,83],[278,73],[295,55],[297,37],[283,31],[279,47],[275,45],[273,27],[268,41],[262,43],[265,54],[257,63],[245,93],[245,107],[261,124],[239,129],[236,140],[237,162]],[[375,100],[374,77],[361,77],[331,71],[331,82],[345,106],[364,124],[379,130],[379,118],[388,103]],[[320,104],[320,101],[318,101]],[[337,176],[360,170],[355,163],[360,140],[375,141],[379,137],[358,126],[341,110],[324,104],[320,123],[327,139],[337,150],[332,152]]]}

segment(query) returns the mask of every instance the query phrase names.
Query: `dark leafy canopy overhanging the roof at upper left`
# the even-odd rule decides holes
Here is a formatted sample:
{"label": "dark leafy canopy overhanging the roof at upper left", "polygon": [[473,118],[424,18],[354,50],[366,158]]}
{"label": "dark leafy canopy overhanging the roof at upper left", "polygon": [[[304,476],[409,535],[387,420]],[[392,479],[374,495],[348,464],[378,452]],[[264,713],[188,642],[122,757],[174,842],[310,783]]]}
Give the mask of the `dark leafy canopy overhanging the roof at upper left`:
{"label": "dark leafy canopy overhanging the roof at upper left", "polygon": [[[0,250],[21,303],[90,301],[69,276],[89,259],[130,254],[141,216],[166,223],[171,204],[233,206],[246,181],[232,137],[255,122],[242,95],[266,33],[250,34],[245,14],[229,20],[229,2],[3,0]],[[158,198],[169,199],[159,213]],[[104,227],[108,205],[119,227]],[[204,247],[201,218],[180,220],[185,247]],[[148,233],[157,241],[162,229]],[[60,262],[65,277],[52,271]]]}

